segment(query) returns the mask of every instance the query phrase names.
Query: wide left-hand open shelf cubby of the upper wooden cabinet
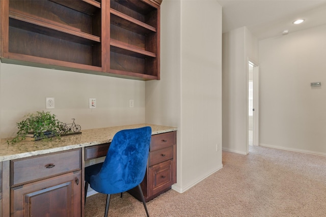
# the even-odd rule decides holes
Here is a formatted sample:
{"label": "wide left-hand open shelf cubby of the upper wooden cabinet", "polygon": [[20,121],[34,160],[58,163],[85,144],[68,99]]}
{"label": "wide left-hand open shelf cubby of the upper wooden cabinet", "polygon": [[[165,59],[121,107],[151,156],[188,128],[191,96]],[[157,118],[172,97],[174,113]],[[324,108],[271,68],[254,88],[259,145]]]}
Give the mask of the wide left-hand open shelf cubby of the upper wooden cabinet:
{"label": "wide left-hand open shelf cubby of the upper wooden cabinet", "polygon": [[67,2],[9,1],[9,53],[101,67],[100,4]]}

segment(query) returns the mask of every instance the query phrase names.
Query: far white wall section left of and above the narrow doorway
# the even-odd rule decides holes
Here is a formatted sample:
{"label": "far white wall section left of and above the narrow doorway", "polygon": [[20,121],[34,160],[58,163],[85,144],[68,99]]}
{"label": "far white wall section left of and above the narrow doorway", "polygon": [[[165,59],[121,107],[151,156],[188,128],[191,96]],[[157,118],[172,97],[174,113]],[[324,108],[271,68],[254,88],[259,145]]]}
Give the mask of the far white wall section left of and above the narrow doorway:
{"label": "far white wall section left of and above the narrow doorway", "polygon": [[248,58],[258,63],[258,40],[247,27],[223,34],[223,149],[248,153]]}

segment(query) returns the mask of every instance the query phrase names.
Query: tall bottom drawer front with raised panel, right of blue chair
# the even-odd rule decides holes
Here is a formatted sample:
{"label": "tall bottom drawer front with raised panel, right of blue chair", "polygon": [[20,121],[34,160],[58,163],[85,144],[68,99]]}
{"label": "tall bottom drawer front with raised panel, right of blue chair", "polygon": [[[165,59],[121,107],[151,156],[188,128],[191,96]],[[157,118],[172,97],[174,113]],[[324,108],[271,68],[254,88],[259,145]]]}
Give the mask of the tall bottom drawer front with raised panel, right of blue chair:
{"label": "tall bottom drawer front with raised panel, right of blue chair", "polygon": [[150,195],[157,194],[175,183],[173,173],[173,160],[154,165],[149,168]]}

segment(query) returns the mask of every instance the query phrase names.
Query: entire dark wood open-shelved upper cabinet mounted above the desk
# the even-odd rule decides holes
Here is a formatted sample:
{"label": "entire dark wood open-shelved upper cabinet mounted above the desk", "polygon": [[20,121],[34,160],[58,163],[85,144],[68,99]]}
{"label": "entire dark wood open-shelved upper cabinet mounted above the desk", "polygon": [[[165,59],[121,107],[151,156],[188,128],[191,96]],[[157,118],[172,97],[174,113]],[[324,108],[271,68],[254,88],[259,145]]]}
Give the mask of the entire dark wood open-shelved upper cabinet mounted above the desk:
{"label": "entire dark wood open-shelved upper cabinet mounted above the desk", "polygon": [[0,0],[6,63],[159,79],[155,0]]}

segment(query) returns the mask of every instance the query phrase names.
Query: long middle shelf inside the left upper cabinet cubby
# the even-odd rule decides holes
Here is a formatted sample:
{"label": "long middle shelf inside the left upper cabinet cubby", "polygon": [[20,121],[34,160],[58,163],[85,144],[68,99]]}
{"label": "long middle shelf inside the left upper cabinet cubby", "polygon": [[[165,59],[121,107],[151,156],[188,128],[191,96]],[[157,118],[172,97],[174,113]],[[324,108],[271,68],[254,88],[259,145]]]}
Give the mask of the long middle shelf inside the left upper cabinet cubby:
{"label": "long middle shelf inside the left upper cabinet cubby", "polygon": [[100,37],[78,32],[74,29],[66,28],[65,26],[60,26],[16,12],[9,11],[9,18],[10,26],[50,37],[56,37],[86,45],[92,45],[101,41]]}

